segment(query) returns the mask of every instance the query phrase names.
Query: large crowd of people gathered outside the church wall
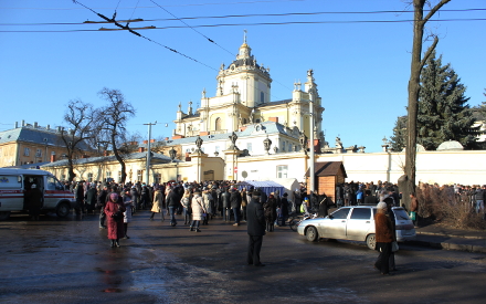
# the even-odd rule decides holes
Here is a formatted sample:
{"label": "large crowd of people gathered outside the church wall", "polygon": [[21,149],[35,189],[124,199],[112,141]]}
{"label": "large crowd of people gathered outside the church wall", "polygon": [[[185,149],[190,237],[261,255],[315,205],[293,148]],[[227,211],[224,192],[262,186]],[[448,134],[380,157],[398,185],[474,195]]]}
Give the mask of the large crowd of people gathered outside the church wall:
{"label": "large crowd of people gathered outside the church wall", "polygon": [[[381,274],[395,270],[395,220],[392,207],[401,206],[402,196],[397,185],[390,182],[346,182],[336,186],[335,201],[325,193],[309,191],[305,185],[290,192],[266,193],[263,189],[239,187],[235,181],[182,182],[170,181],[146,185],[142,182],[118,185],[116,182],[85,182],[68,185],[76,198],[76,214],[95,213],[99,210],[99,228],[107,229],[110,247],[120,247],[120,239],[127,235],[131,216],[139,210],[150,210],[150,220],[160,213],[160,220],[170,219],[176,227],[177,214],[182,214],[190,231],[201,232],[201,226],[209,224],[214,218],[231,222],[237,227],[247,222],[249,251],[247,263],[263,266],[260,261],[263,235],[273,232],[275,226],[285,226],[290,213],[316,212],[327,216],[330,207],[377,205],[376,240],[379,251],[374,264]],[[439,187],[420,185],[419,189]],[[484,212],[486,186],[464,187],[461,185],[443,186],[457,202],[475,207],[476,212]],[[418,226],[419,201],[411,195],[411,219]],[[416,214],[416,217],[415,217]],[[397,245],[398,247],[398,245]]]}

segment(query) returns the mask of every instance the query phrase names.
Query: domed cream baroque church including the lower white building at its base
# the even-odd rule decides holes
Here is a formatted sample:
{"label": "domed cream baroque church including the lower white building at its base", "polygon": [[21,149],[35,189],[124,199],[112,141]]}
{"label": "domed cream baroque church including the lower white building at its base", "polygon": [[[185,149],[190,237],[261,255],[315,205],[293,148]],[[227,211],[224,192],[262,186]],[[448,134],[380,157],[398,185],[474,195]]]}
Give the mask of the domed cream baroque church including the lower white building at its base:
{"label": "domed cream baroque church including the lower white building at its base", "polygon": [[[324,143],[324,107],[313,70],[307,72],[304,90],[300,83],[294,83],[294,91],[288,99],[271,101],[271,88],[270,69],[258,64],[245,35],[236,59],[228,66],[224,63],[221,65],[214,96],[208,96],[203,90],[201,107],[193,111],[190,102],[187,113],[182,112],[179,104],[172,140],[167,144],[181,145],[182,151],[191,153],[196,149],[194,137],[200,136],[204,141],[204,153],[219,154],[231,145],[229,135],[235,133],[239,148],[255,155],[265,153],[257,147],[263,147],[266,137],[273,143],[271,153],[300,151],[300,137],[305,134],[309,138],[310,132],[314,132],[315,143]],[[314,129],[309,122],[310,98],[314,102]],[[275,134],[272,136],[270,130],[275,130]],[[220,143],[211,145],[214,140]],[[214,147],[209,148],[208,145]]]}

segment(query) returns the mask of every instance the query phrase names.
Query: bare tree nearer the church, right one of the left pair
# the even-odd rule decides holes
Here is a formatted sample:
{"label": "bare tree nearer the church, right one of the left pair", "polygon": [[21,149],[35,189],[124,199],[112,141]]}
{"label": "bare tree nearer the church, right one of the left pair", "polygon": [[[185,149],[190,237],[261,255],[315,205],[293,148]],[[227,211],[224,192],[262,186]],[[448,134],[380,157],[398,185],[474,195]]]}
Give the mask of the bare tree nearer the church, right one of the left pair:
{"label": "bare tree nearer the church, right one of the left pair", "polygon": [[113,154],[120,165],[122,182],[125,184],[127,172],[120,147],[123,143],[126,143],[126,124],[130,117],[135,116],[136,111],[130,103],[125,101],[119,90],[104,87],[98,95],[107,102],[107,105],[99,111],[101,130],[109,141]]}

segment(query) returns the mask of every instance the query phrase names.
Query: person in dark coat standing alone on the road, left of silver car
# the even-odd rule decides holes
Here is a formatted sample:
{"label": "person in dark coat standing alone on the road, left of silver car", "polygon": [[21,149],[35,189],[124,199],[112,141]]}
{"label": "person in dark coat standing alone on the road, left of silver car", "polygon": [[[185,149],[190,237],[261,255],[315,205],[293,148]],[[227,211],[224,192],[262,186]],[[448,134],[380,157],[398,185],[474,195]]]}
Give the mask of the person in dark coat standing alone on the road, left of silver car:
{"label": "person in dark coat standing alone on the road, left of silver car", "polygon": [[249,233],[249,251],[246,262],[249,265],[264,266],[260,261],[260,251],[262,249],[263,235],[265,235],[265,216],[263,207],[260,203],[261,192],[253,191],[252,200],[246,208],[246,223]]}

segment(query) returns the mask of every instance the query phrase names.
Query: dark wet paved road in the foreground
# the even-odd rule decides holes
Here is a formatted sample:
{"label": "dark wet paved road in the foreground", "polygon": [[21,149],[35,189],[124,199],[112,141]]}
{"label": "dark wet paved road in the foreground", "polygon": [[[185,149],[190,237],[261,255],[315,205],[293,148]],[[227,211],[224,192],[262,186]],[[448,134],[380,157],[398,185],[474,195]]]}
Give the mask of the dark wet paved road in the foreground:
{"label": "dark wet paved road in the foreground", "polygon": [[220,219],[190,232],[149,212],[110,249],[97,216],[0,222],[1,303],[484,303],[486,254],[402,245],[380,275],[364,244],[264,237],[265,268],[245,263],[246,227]]}

